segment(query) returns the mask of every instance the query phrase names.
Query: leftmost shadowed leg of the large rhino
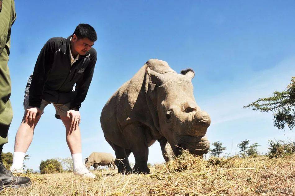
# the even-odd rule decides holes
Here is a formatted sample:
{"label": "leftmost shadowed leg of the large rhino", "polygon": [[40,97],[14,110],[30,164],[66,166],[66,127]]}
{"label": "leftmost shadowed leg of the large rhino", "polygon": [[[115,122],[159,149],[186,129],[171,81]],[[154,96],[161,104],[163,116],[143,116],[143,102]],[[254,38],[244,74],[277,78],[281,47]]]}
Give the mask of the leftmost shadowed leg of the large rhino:
{"label": "leftmost shadowed leg of the large rhino", "polygon": [[131,167],[126,155],[125,148],[117,146],[116,144],[113,144],[113,147],[116,154],[115,164],[118,168],[118,172],[122,174],[130,173]]}

